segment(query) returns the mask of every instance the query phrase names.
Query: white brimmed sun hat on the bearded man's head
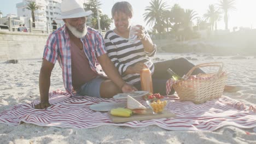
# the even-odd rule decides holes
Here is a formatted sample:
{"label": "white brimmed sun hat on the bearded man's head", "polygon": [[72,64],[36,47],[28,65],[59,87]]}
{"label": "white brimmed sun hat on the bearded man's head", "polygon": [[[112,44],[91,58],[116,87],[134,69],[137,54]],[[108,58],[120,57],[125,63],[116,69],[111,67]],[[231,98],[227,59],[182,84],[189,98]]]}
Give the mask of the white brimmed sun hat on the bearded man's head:
{"label": "white brimmed sun hat on the bearded man's head", "polygon": [[80,0],[63,0],[61,2],[61,16],[56,20],[83,17],[92,14],[92,11],[85,11],[83,2]]}

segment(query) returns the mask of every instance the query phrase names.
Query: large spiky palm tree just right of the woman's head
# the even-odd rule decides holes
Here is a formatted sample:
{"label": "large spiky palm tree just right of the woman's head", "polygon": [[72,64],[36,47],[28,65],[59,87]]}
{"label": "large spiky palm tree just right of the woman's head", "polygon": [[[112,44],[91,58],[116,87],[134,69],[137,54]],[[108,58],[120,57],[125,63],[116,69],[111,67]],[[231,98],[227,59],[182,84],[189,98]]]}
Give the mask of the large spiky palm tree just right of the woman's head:
{"label": "large spiky palm tree just right of the woman's head", "polygon": [[166,2],[162,0],[152,0],[150,6],[146,7],[146,13],[143,14],[146,25],[154,25],[159,33],[164,31],[164,11],[167,10]]}

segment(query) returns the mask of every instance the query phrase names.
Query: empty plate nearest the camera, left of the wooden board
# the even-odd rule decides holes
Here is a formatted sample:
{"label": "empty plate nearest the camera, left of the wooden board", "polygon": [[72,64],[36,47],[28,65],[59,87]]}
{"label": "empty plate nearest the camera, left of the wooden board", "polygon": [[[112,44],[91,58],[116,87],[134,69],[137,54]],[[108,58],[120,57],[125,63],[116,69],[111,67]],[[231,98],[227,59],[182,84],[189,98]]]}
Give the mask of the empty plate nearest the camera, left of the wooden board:
{"label": "empty plate nearest the camera, left of the wooden board", "polygon": [[90,109],[94,111],[110,111],[117,107],[126,107],[124,103],[114,103],[114,102],[102,102],[99,104],[90,105]]}

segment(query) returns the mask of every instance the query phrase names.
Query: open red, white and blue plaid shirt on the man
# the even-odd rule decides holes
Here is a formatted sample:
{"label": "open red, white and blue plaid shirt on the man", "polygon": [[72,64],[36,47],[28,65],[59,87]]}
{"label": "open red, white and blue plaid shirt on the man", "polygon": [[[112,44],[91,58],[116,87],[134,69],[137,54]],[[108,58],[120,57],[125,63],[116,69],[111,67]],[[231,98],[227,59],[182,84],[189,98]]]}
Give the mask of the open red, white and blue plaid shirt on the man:
{"label": "open red, white and blue plaid shirt on the man", "polygon": [[[87,27],[87,29],[88,33],[83,38],[80,38],[84,44],[85,55],[89,60],[91,69],[97,74],[106,76],[97,61],[97,57],[107,53],[103,37],[95,29],[90,27]],[[62,69],[65,89],[69,94],[73,95],[70,46],[69,34],[66,25],[64,25],[49,35],[44,47],[43,58],[53,64],[58,60]]]}

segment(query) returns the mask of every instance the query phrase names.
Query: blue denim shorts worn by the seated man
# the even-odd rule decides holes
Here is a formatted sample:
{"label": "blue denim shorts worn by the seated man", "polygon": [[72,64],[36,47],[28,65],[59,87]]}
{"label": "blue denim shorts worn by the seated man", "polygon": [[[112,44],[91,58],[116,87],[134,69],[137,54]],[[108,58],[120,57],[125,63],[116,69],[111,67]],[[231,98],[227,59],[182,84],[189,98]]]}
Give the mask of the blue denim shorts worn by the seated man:
{"label": "blue denim shorts worn by the seated man", "polygon": [[101,82],[104,81],[101,76],[97,76],[91,81],[85,83],[78,89],[76,95],[88,95],[90,97],[101,97],[100,88],[101,88]]}

